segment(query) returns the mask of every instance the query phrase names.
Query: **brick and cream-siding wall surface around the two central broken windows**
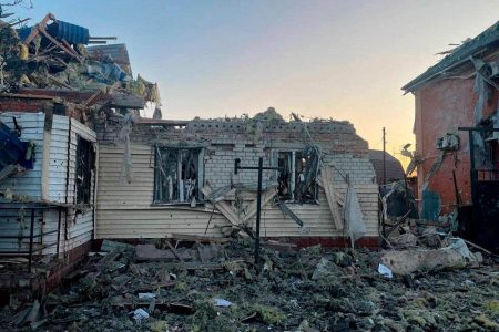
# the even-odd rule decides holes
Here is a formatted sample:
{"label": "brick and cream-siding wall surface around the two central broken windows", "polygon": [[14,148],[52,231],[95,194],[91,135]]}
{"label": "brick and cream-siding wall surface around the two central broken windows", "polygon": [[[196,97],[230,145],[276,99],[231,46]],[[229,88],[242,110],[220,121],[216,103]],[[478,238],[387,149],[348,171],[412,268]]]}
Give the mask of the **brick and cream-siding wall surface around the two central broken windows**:
{"label": "brick and cream-siding wall surface around the two central broken windows", "polygon": [[[301,133],[298,123],[294,124],[295,128],[286,123],[281,129],[277,127],[262,134],[248,131],[247,125],[244,122],[230,124],[221,121],[193,121],[185,129],[132,126],[131,184],[126,183],[122,172],[124,144],[120,142],[120,125],[98,125],[100,144],[95,238],[163,238],[173,234],[222,236],[217,226],[230,224],[216,210],[213,212],[204,207],[190,208],[189,205],[152,205],[152,146],[156,143],[174,146],[180,142],[184,145],[203,145],[204,179],[215,189],[231,184],[231,180],[256,187],[256,172],[241,170],[238,175],[234,175],[235,158],[241,158],[242,165],[249,166],[257,165],[258,157],[264,157],[266,165],[276,166],[276,152],[299,151],[307,139],[302,138],[304,134]],[[326,125],[336,125],[337,132],[334,133],[332,127],[325,128]],[[153,132],[156,129],[160,134]],[[339,169],[334,172],[334,181],[343,196],[346,193],[343,177],[349,174],[365,215],[367,236],[377,237],[378,189],[373,181],[375,174],[367,157],[367,143],[346,123],[324,123],[315,132],[310,132],[325,154],[324,162]],[[275,172],[266,172],[264,184],[275,183]],[[288,204],[288,207],[304,221],[304,228],[284,217],[278,208],[267,205],[262,212],[264,237],[343,236],[343,231],[335,229],[324,191],[319,190],[318,204]],[[212,221],[205,234],[210,218]],[[254,221],[255,218],[249,220]]]}

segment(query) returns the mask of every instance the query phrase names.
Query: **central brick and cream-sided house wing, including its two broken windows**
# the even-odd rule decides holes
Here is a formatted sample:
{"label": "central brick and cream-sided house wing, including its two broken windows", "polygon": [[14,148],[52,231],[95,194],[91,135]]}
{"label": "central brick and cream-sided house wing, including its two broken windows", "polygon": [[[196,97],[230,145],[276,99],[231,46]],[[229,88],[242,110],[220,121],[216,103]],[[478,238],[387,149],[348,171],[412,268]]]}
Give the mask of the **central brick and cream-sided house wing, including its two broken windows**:
{"label": "central brick and cream-sided house wing, including its two broken windows", "polygon": [[[343,243],[345,229],[335,226],[326,194],[316,183],[317,172],[330,168],[330,185],[340,201],[347,175],[357,191],[367,227],[359,243],[378,245],[375,173],[367,142],[348,122],[284,122],[265,116],[128,122],[110,114],[95,125],[95,131],[99,239],[223,236],[226,227],[253,228],[254,209],[248,207],[256,197],[257,172],[241,170],[235,175],[234,160],[241,158],[243,166],[257,166],[258,157],[263,157],[265,166],[283,167],[283,172],[264,173],[264,187],[272,191],[275,186],[278,201],[294,214],[281,210],[267,191],[271,196],[264,197],[263,237]],[[313,146],[320,149],[320,157]],[[216,199],[203,195],[206,185],[218,193]],[[212,204],[216,201],[226,203],[225,210],[214,209]],[[343,217],[337,221],[343,224]]]}

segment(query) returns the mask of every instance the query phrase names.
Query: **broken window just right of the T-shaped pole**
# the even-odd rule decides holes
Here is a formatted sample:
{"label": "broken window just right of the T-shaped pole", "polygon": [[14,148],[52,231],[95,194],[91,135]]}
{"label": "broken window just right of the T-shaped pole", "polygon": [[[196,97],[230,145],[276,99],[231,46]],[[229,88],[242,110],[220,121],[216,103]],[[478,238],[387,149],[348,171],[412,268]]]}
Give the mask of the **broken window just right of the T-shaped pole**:
{"label": "broken window just right of the T-shaped pole", "polygon": [[313,164],[313,156],[304,152],[278,153],[277,195],[281,199],[297,203],[317,201],[316,174],[310,174]]}

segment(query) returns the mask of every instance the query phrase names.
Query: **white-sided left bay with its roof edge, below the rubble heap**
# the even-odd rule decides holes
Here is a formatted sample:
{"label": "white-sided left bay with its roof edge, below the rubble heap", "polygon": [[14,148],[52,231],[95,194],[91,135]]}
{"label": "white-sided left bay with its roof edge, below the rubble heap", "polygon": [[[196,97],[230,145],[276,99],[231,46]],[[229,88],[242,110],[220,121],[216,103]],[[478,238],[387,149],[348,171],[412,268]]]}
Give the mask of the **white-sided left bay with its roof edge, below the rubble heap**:
{"label": "white-sided left bay with its roof edge, below the rubble heap", "polygon": [[[49,89],[0,96],[0,253],[90,250],[98,145],[89,122],[93,110],[84,101],[93,96]],[[119,95],[95,100],[124,105]],[[141,98],[128,100],[128,108],[144,105]]]}

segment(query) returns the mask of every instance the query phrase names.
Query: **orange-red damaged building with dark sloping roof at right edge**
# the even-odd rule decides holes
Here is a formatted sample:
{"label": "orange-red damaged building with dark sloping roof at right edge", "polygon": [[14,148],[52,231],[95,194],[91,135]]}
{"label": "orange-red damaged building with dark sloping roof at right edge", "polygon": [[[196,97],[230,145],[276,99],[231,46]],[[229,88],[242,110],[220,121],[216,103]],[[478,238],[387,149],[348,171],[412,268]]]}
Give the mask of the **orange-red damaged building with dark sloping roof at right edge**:
{"label": "orange-red damaged building with dark sloping roof at right edge", "polygon": [[496,248],[499,236],[499,23],[450,50],[403,86],[416,101],[421,217],[459,218],[460,230]]}

